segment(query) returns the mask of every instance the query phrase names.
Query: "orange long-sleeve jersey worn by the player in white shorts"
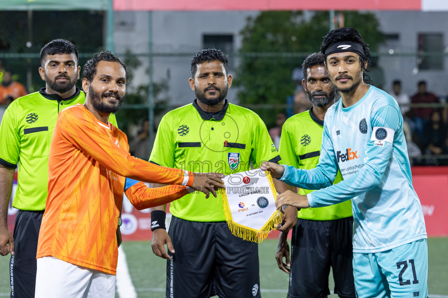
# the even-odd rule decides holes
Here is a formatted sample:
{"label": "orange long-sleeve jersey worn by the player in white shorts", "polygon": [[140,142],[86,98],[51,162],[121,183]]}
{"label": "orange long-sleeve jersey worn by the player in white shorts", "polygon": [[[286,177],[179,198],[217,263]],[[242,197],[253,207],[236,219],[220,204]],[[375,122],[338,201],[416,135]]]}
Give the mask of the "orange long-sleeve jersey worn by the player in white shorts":
{"label": "orange long-sleeve jersey worn by the player in white shorts", "polygon": [[37,258],[54,256],[115,274],[116,228],[125,177],[177,184],[146,189],[138,183],[126,189],[131,203],[140,209],[182,197],[188,193],[186,186],[193,184],[191,172],[129,155],[126,135],[110,123],[99,122],[83,105],[64,109],[56,122],[48,158],[48,196]]}

